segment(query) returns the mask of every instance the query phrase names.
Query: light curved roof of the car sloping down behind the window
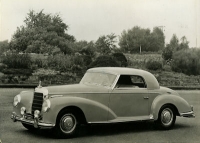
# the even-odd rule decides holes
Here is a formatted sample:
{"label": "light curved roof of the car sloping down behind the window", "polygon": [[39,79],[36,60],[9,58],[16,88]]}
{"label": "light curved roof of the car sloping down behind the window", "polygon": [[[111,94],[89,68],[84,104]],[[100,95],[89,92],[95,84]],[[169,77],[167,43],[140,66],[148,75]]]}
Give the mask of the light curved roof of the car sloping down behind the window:
{"label": "light curved roof of the car sloping down behind the window", "polygon": [[88,69],[88,72],[104,72],[116,75],[136,75],[144,78],[148,89],[159,89],[159,83],[155,76],[148,71],[125,67],[97,67]]}

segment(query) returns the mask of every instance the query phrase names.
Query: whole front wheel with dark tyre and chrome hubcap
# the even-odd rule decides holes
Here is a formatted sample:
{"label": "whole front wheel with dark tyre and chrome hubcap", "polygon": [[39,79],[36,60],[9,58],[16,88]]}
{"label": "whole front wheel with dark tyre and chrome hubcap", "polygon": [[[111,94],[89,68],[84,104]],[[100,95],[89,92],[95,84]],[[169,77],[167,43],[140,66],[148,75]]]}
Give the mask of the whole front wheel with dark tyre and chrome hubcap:
{"label": "whole front wheel with dark tyre and chrome hubcap", "polygon": [[77,116],[70,111],[63,111],[57,119],[54,133],[58,138],[70,138],[77,132]]}

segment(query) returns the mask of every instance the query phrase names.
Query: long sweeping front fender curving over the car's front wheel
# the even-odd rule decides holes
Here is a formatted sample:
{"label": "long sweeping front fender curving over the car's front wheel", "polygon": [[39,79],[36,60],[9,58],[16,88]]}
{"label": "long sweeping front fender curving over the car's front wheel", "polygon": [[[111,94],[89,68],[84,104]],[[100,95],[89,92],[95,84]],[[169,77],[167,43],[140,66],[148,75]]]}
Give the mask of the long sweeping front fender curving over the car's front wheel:
{"label": "long sweeping front fender curving over the car's front wheel", "polygon": [[107,121],[108,112],[112,118],[116,115],[104,104],[81,97],[57,97],[50,98],[51,108],[47,113],[43,113],[43,120],[55,123],[58,113],[65,107],[76,106],[80,108],[87,122]]}

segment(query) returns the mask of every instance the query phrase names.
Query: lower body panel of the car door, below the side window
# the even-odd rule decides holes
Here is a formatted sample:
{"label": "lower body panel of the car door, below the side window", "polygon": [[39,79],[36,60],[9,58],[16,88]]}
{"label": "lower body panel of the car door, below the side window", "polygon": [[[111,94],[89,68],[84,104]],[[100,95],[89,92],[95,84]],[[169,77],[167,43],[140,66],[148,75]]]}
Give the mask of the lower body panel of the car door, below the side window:
{"label": "lower body panel of the car door, below the side window", "polygon": [[142,88],[115,88],[110,95],[109,108],[117,117],[148,115],[148,91]]}

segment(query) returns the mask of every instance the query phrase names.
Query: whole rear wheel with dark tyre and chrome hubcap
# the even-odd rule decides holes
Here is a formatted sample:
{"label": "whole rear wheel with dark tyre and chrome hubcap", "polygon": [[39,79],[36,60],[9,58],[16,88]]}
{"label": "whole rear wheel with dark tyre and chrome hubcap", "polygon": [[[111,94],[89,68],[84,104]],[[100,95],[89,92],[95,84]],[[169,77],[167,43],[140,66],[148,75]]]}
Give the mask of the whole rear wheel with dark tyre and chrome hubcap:
{"label": "whole rear wheel with dark tyre and chrome hubcap", "polygon": [[165,130],[171,129],[176,121],[174,108],[170,105],[164,105],[159,112],[158,120],[155,121],[159,127]]}

